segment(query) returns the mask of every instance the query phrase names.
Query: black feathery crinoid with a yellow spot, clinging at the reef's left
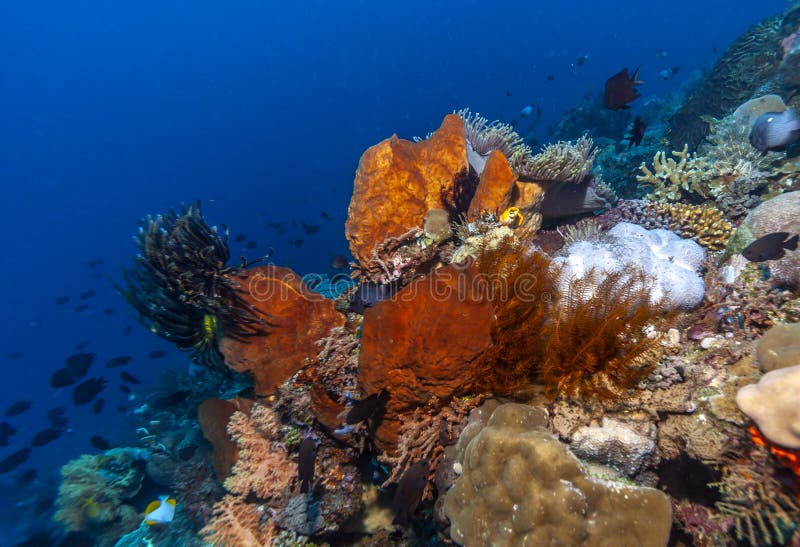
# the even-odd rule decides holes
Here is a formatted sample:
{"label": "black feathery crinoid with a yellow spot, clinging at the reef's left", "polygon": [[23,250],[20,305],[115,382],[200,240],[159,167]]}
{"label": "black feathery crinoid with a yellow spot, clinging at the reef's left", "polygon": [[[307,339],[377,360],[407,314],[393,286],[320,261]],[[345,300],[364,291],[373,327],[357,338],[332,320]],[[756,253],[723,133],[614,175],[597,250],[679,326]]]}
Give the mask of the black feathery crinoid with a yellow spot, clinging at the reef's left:
{"label": "black feathery crinoid with a yellow spot, clinging at the reef's left", "polygon": [[146,217],[136,237],[140,253],[123,270],[123,298],[152,332],[191,351],[207,366],[221,366],[217,342],[263,333],[269,318],[239,293],[238,276],[246,263],[226,266],[227,230],[220,234],[203,218],[199,202],[180,214],[170,210]]}

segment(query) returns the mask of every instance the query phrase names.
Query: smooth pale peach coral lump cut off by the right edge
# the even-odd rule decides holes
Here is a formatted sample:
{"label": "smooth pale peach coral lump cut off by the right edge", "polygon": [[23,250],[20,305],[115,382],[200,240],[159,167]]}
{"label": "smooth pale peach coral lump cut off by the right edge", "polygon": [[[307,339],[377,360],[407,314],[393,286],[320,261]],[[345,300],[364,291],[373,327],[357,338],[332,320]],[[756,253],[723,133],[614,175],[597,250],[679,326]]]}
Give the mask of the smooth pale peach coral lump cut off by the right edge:
{"label": "smooth pale peach coral lump cut off by the right edge", "polygon": [[736,404],[770,441],[800,448],[800,365],[766,373],[757,384],[744,386]]}

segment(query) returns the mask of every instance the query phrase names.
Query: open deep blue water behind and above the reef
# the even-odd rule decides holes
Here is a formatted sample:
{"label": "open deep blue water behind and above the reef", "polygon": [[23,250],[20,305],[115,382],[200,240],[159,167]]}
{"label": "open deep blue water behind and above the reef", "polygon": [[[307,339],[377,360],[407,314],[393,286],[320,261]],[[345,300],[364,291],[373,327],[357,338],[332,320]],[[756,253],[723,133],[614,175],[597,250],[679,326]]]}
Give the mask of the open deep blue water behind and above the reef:
{"label": "open deep blue water behind and above the reef", "polygon": [[[567,108],[622,67],[641,66],[643,99],[665,96],[788,7],[619,4],[3,2],[0,407],[29,399],[33,408],[8,419],[19,432],[0,459],[47,427],[49,408],[67,406],[71,429],[0,476],[0,544],[35,526],[30,501],[54,497],[59,467],[96,452],[91,435],[133,439],[130,413],[142,396],[162,370],[187,366],[136,323],[108,281],[130,264],[144,215],[201,199],[209,222],[247,236],[232,244],[234,256],[272,247],[280,265],[330,272],[347,252],[343,224],[368,146],[392,133],[424,136],[466,106],[504,121],[540,106],[545,140]],[[672,66],[677,76],[660,79]],[[322,229],[306,236],[293,220]],[[61,296],[70,301],[55,304]],[[90,375],[109,380],[97,416],[74,408],[69,389],[49,387],[82,341],[97,354]],[[169,354],[146,357],[157,349]],[[143,380],[133,400],[118,390],[120,369],[104,368],[117,355],[131,355],[127,370]],[[14,486],[32,467],[34,484]]]}

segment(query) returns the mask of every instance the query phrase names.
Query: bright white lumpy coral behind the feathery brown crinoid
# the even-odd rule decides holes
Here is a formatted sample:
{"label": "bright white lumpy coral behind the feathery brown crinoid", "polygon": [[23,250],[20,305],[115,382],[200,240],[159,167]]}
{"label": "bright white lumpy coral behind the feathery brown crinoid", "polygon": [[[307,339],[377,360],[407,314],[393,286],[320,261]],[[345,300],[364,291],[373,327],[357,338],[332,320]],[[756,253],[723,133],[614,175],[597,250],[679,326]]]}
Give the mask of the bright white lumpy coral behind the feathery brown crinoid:
{"label": "bright white lumpy coral behind the feathery brown crinoid", "polygon": [[705,251],[668,230],[621,222],[602,241],[576,241],[562,252],[565,256],[554,260],[564,268],[559,282],[562,291],[591,270],[602,275],[638,269],[652,281],[651,303],[664,299],[667,310],[694,308],[705,294],[703,280],[696,274]]}

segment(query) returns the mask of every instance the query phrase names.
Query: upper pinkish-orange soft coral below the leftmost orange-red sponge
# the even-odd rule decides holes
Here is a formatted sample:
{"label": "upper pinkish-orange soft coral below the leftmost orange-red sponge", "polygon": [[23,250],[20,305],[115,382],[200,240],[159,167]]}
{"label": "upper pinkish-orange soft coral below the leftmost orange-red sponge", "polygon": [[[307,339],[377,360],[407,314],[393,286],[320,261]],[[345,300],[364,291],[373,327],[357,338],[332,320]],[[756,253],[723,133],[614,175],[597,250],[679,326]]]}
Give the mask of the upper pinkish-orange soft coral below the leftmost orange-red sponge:
{"label": "upper pinkish-orange soft coral below the leftmost orange-red sponge", "polygon": [[228,422],[228,433],[239,447],[239,456],[225,488],[261,499],[278,498],[297,477],[297,464],[289,459],[286,449],[273,442],[279,434],[279,423],[271,408],[255,405],[250,416],[235,412]]}

